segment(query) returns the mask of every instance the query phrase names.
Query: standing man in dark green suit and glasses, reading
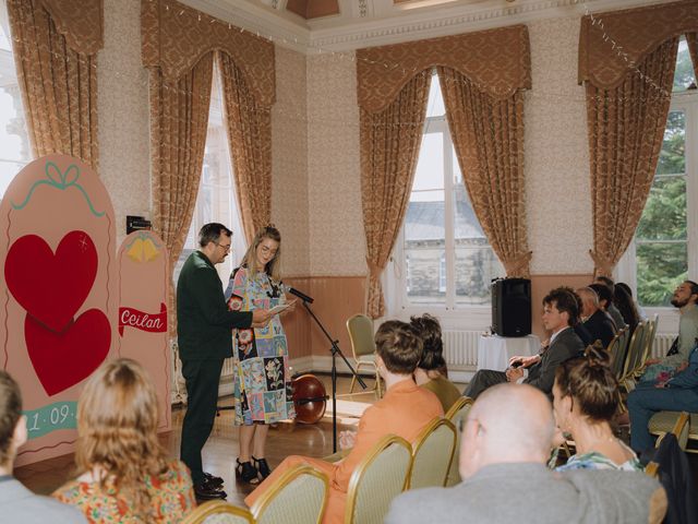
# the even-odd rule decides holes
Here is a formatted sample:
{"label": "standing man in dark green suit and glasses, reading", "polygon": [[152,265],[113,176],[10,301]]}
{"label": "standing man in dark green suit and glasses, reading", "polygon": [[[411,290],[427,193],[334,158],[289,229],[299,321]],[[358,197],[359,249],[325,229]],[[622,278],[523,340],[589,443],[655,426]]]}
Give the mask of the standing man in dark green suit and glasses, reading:
{"label": "standing man in dark green suit and glasses, reading", "polygon": [[222,479],[204,473],[201,450],[214,427],[224,359],[232,356],[230,330],[264,325],[272,318],[264,309],[228,311],[215,265],[226,260],[231,241],[232,231],[222,224],[202,227],[200,249],[186,259],[177,283],[177,337],[188,395],[180,454],[198,499],[226,498]]}

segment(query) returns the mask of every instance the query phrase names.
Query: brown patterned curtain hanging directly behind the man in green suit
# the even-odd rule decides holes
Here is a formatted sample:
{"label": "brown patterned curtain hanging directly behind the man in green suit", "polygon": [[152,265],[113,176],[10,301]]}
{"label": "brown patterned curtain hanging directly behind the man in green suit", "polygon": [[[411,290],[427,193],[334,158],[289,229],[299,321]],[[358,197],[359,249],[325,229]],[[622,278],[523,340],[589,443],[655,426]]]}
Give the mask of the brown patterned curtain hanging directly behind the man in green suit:
{"label": "brown patterned curtain hanging directly behind the man in green suit", "polygon": [[[177,81],[149,70],[153,226],[173,270],[192,222],[204,163],[214,53],[208,52]],[[174,293],[170,293],[170,333],[177,333]]]}

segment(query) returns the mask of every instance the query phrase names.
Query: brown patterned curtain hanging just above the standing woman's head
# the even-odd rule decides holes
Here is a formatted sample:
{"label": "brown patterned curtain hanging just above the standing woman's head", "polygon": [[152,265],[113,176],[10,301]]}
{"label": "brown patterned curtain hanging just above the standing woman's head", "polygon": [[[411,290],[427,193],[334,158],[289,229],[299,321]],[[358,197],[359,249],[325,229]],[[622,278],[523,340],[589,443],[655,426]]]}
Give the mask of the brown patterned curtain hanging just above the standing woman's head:
{"label": "brown patterned curtain hanging just above the standing woman's head", "polygon": [[232,58],[220,52],[228,144],[248,242],[272,218],[272,111],[261,104]]}

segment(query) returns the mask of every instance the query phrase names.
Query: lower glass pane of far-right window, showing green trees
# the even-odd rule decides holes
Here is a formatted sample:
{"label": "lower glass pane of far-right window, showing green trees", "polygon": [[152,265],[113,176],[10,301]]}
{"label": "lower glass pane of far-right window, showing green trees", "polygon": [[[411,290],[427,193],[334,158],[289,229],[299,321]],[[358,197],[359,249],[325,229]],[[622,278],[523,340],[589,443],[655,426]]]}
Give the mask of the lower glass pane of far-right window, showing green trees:
{"label": "lower glass pane of far-right window, showing green trees", "polygon": [[671,306],[672,294],[687,278],[686,243],[637,246],[637,295],[641,306]]}

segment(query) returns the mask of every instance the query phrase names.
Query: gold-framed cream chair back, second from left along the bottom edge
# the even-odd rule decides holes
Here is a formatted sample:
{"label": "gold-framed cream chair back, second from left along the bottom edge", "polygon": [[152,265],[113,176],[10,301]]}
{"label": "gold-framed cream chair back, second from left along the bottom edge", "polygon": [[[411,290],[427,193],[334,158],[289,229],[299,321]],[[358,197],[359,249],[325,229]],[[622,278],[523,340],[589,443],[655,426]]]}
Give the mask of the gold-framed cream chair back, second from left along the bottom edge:
{"label": "gold-framed cream chair back, second from left along the bottom edge", "polygon": [[250,512],[257,524],[318,524],[328,491],[327,475],[312,466],[298,465],[281,475]]}

